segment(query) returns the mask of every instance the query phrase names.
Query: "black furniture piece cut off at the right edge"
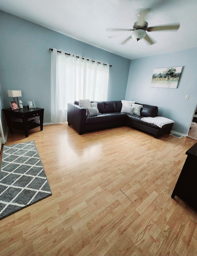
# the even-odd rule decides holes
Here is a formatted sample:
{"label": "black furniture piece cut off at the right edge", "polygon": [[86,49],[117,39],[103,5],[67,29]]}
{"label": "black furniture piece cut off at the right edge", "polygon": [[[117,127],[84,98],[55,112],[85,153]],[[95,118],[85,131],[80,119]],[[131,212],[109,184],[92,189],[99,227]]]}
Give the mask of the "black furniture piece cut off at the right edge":
{"label": "black furniture piece cut off at the right edge", "polygon": [[197,143],[187,152],[187,159],[179,175],[171,197],[178,196],[187,204],[197,209]]}

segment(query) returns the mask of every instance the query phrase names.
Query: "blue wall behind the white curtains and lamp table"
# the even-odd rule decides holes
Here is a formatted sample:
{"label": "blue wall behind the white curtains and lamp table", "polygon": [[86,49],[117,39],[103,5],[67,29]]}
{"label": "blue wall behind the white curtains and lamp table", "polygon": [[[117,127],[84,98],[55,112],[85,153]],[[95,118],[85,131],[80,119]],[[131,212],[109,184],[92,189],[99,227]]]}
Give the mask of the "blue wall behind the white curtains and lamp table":
{"label": "blue wall behind the white curtains and lamp table", "polygon": [[45,27],[0,11],[0,81],[5,108],[8,89],[22,90],[23,105],[33,99],[50,122],[49,48],[85,56],[112,65],[107,100],[125,98],[130,60],[82,43]]}

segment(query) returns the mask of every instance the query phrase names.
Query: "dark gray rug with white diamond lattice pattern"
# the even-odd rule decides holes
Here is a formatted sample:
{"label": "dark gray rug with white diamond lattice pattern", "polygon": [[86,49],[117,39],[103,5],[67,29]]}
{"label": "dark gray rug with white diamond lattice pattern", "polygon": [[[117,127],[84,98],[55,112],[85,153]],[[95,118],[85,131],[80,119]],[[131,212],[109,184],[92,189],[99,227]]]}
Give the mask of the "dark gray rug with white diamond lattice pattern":
{"label": "dark gray rug with white diamond lattice pattern", "polygon": [[52,195],[34,141],[3,146],[0,219]]}

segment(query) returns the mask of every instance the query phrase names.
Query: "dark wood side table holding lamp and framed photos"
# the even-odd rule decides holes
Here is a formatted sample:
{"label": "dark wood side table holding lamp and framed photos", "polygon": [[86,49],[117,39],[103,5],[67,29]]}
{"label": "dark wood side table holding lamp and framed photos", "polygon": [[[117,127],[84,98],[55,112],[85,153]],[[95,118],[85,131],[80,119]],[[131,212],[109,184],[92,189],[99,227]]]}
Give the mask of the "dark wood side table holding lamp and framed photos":
{"label": "dark wood side table holding lamp and framed photos", "polygon": [[[28,130],[31,130],[35,127],[40,126],[40,130],[43,130],[43,118],[44,118],[44,109],[41,108],[32,108],[29,109],[27,106],[24,106],[22,109],[11,110],[2,109],[6,118],[6,122],[9,128],[10,133],[13,133],[13,128],[18,130],[24,130],[25,136],[28,137]],[[28,118],[40,117],[40,124],[36,120],[28,121]],[[12,121],[12,118],[20,118],[22,122]]]}

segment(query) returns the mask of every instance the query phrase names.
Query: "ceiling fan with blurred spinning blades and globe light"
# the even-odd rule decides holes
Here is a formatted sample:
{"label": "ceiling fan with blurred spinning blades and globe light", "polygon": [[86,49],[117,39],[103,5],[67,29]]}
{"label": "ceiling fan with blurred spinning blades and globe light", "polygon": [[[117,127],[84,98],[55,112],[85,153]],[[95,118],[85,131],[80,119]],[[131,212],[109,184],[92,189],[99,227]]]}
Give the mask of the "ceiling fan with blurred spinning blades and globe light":
{"label": "ceiling fan with blurred spinning blades and globe light", "polygon": [[109,28],[107,31],[129,31],[131,34],[127,37],[121,44],[127,43],[130,39],[135,39],[139,41],[141,39],[145,39],[150,45],[156,43],[147,32],[151,31],[163,31],[163,30],[178,30],[180,24],[179,23],[171,23],[162,26],[148,27],[148,23],[144,20],[145,16],[149,12],[150,9],[142,9],[139,14],[139,20],[133,24],[133,28],[131,29],[120,29],[120,28]]}

